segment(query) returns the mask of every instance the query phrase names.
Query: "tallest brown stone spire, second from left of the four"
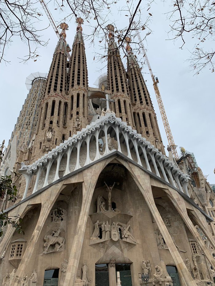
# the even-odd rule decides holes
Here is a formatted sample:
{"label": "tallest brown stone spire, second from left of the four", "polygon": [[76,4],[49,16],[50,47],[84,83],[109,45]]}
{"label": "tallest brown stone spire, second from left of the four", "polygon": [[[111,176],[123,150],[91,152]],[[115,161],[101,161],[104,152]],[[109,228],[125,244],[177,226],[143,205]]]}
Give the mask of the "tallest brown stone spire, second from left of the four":
{"label": "tallest brown stone spire, second from left of the four", "polygon": [[[68,84],[68,115],[72,121],[71,134],[76,133],[81,127],[88,124],[88,72],[82,34],[82,24],[84,20],[80,17],[76,19],[76,35],[72,45],[72,55],[69,63]],[[79,120],[79,128],[76,122]]]}

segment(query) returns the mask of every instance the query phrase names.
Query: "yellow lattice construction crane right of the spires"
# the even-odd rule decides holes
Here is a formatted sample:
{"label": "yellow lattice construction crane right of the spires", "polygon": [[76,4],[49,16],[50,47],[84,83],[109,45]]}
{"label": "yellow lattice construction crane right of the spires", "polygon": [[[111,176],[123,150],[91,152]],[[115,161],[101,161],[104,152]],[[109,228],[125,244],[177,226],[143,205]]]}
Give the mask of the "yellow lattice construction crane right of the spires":
{"label": "yellow lattice construction crane right of the spires", "polygon": [[177,146],[174,143],[172,132],[170,130],[170,124],[169,124],[169,122],[167,120],[166,111],[164,109],[163,102],[162,102],[161,95],[160,95],[160,91],[158,89],[159,81],[158,81],[158,78],[154,77],[154,74],[153,74],[153,72],[151,70],[151,66],[150,66],[149,60],[148,60],[147,55],[146,55],[146,50],[145,50],[145,48],[144,48],[144,46],[142,44],[142,40],[141,40],[139,31],[137,31],[137,36],[138,36],[138,39],[139,39],[140,47],[143,50],[143,54],[144,54],[143,57],[145,57],[145,59],[146,59],[147,66],[148,66],[150,74],[151,74],[155,95],[156,95],[156,98],[157,98],[157,101],[158,101],[158,106],[159,106],[161,117],[162,117],[162,120],[163,120],[163,125],[164,125],[165,131],[166,131],[167,140],[168,140],[169,145],[170,145],[170,147],[172,149],[172,154],[174,155],[175,160],[177,160],[178,159],[178,153],[177,153],[177,150],[176,150]]}

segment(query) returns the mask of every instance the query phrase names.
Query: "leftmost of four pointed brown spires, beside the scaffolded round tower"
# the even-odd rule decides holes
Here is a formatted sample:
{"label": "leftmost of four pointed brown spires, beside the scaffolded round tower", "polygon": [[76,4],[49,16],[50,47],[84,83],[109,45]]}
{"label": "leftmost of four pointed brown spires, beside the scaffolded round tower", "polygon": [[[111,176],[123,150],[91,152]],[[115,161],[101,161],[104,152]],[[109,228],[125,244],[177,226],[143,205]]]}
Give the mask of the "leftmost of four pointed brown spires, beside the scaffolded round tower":
{"label": "leftmost of four pointed brown spires, beside the scaffolded round tower", "polygon": [[[54,50],[52,63],[46,81],[45,93],[41,101],[39,119],[32,160],[51,151],[59,145],[65,135],[67,120],[67,43],[66,30],[68,25],[60,25],[62,31]],[[37,158],[35,157],[37,155]]]}

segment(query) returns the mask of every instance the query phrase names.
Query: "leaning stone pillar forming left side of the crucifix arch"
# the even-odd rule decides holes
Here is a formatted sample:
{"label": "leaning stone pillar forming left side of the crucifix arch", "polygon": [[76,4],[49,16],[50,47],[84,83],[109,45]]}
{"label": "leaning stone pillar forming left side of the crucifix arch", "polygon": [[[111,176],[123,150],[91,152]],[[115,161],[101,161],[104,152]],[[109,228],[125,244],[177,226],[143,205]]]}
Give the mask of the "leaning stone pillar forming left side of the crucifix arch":
{"label": "leaning stone pillar forming left side of the crucifix arch", "polygon": [[76,273],[78,269],[81,249],[84,241],[84,233],[86,229],[92,195],[96,186],[97,178],[102,170],[104,163],[97,163],[91,168],[83,171],[84,182],[82,184],[83,199],[81,205],[80,216],[76,227],[75,237],[69,256],[67,272],[63,286],[74,286]]}

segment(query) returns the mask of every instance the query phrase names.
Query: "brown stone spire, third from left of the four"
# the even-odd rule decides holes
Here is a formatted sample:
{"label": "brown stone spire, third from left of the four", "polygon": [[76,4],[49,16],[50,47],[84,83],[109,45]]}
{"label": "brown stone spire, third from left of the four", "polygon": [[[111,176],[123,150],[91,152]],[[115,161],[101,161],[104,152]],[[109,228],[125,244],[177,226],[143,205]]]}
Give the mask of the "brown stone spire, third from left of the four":
{"label": "brown stone spire, third from left of the four", "polygon": [[134,126],[131,112],[131,97],[128,88],[126,72],[114,40],[114,27],[108,25],[108,89],[111,91],[111,99],[115,103],[111,104],[117,117]]}

